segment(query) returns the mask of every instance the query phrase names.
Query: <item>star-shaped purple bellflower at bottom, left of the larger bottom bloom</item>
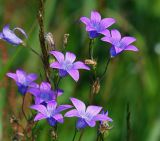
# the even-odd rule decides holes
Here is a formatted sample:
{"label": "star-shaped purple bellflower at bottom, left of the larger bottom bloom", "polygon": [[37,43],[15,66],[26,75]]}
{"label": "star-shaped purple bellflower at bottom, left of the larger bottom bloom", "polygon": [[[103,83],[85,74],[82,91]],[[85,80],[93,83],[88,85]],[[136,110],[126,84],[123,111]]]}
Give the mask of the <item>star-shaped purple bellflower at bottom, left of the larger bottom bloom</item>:
{"label": "star-shaped purple bellflower at bottom, left of the larger bottom bloom", "polygon": [[47,103],[46,106],[32,105],[30,108],[38,111],[38,114],[35,116],[34,121],[47,119],[50,126],[55,126],[57,122],[63,123],[63,116],[60,112],[71,107],[71,105],[57,106],[57,103],[55,101],[52,101]]}

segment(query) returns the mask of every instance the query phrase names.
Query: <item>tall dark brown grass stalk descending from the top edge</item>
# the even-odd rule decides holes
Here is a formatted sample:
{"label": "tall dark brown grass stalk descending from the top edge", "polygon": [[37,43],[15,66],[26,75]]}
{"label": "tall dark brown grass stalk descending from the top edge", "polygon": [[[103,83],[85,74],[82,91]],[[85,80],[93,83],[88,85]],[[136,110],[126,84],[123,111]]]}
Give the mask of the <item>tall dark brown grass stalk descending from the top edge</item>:
{"label": "tall dark brown grass stalk descending from the top edge", "polygon": [[41,51],[42,51],[42,60],[43,60],[43,67],[45,71],[45,77],[48,82],[49,81],[49,55],[48,51],[45,45],[45,37],[44,37],[44,0],[39,0],[39,13],[38,13],[38,22],[39,22],[39,41],[41,45]]}

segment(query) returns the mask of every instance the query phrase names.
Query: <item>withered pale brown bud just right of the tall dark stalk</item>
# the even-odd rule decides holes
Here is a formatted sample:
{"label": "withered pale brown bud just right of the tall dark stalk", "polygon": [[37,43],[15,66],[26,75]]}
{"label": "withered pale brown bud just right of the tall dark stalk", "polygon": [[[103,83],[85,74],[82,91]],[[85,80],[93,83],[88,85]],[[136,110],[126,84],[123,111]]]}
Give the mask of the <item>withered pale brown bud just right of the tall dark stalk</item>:
{"label": "withered pale brown bud just right of the tall dark stalk", "polygon": [[47,43],[48,52],[55,50],[55,42],[54,42],[52,33],[49,32],[44,37]]}

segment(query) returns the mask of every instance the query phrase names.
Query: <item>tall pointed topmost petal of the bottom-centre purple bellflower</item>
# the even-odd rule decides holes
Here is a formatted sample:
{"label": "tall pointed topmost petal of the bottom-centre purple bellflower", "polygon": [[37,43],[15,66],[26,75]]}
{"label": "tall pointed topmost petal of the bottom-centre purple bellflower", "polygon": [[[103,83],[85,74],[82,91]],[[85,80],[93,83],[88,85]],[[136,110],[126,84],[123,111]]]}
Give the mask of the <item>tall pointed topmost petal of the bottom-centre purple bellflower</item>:
{"label": "tall pointed topmost petal of the bottom-centre purple bellflower", "polygon": [[76,98],[70,98],[70,100],[79,113],[85,113],[86,105],[81,100],[78,100]]}

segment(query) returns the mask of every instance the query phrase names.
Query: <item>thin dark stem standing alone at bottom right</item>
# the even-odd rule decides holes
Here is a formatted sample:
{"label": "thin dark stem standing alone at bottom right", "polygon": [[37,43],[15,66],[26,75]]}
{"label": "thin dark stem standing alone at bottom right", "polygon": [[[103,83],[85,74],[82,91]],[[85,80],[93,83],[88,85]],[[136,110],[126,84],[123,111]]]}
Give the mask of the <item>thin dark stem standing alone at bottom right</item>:
{"label": "thin dark stem standing alone at bottom right", "polygon": [[127,120],[127,141],[130,141],[130,134],[131,134],[130,116],[131,116],[131,113],[130,113],[130,109],[129,109],[129,103],[127,103],[127,117],[126,117],[126,120]]}

